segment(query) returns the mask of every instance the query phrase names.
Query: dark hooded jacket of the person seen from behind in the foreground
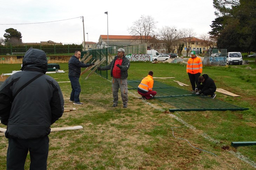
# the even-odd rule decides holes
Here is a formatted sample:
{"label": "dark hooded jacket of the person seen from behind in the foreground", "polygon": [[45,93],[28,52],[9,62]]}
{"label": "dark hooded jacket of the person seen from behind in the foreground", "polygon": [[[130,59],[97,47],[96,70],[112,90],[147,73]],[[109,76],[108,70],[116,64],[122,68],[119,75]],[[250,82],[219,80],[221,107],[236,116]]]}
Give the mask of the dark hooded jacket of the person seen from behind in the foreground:
{"label": "dark hooded jacket of the person seen from behind in the foreground", "polygon": [[[64,111],[59,84],[47,71],[45,52],[29,49],[22,62],[21,72],[6,79],[0,87],[0,120],[7,125],[7,138],[34,139],[48,135],[50,125]],[[36,75],[42,76],[17,91]]]}

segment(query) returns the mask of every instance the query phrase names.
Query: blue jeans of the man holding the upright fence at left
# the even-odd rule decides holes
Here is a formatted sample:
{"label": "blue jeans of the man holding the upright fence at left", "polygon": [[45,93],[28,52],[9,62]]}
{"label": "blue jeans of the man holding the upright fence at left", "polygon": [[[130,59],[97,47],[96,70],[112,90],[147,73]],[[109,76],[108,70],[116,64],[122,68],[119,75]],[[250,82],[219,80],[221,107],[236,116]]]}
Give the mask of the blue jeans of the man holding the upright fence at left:
{"label": "blue jeans of the man holding the upright fence at left", "polygon": [[72,77],[68,76],[70,82],[71,82],[71,94],[70,94],[70,100],[74,102],[80,102],[79,95],[81,92],[81,87],[79,83],[79,77]]}

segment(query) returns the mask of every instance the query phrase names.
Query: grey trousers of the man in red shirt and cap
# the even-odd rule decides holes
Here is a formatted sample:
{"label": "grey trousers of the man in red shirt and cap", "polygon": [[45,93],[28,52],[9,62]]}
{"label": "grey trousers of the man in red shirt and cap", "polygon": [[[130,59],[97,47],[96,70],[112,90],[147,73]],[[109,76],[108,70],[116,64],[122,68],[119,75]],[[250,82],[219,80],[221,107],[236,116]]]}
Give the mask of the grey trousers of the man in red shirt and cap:
{"label": "grey trousers of the man in red shirt and cap", "polygon": [[113,103],[117,105],[118,103],[118,91],[121,90],[121,97],[123,104],[128,102],[128,88],[127,88],[127,79],[118,79],[112,77],[112,92],[113,92]]}

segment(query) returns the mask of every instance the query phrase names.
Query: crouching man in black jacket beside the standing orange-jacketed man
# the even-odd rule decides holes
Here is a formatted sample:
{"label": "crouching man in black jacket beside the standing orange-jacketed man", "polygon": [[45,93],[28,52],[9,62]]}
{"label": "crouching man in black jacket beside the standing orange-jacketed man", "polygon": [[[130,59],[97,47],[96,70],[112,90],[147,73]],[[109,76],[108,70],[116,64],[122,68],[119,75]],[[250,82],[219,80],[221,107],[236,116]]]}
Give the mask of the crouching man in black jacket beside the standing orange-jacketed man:
{"label": "crouching man in black jacket beside the standing orange-jacketed man", "polygon": [[[202,83],[202,84],[201,84]],[[205,96],[211,95],[211,98],[215,98],[216,85],[207,74],[203,74],[198,77],[198,83],[196,85],[196,95],[203,94]]]}

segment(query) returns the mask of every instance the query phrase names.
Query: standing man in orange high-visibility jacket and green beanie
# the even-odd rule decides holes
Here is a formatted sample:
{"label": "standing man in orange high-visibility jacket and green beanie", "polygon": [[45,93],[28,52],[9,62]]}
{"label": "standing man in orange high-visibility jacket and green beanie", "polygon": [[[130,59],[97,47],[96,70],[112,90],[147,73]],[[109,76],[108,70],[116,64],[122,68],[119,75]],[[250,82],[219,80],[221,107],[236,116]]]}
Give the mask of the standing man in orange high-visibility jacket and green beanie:
{"label": "standing man in orange high-visibility jacket and green beanie", "polygon": [[200,57],[196,56],[195,51],[191,51],[191,58],[188,59],[187,73],[192,86],[192,93],[195,93],[198,77],[203,71],[203,64]]}

